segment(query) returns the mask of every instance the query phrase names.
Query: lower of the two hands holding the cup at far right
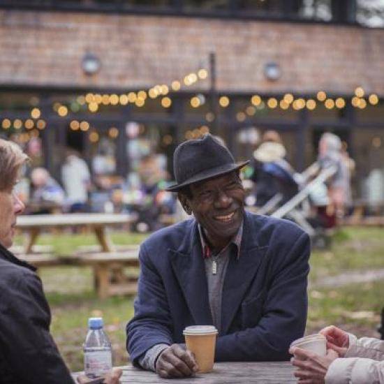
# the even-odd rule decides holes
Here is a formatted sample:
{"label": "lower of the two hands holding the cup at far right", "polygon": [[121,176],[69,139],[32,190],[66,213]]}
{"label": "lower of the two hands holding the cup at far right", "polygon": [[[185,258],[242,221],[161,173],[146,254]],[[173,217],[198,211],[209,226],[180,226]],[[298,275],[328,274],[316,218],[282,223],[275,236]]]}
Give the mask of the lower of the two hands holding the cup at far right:
{"label": "lower of the two hands holding the cup at far right", "polygon": [[328,367],[339,357],[332,349],[325,357],[297,347],[290,348],[289,352],[294,355],[290,361],[298,368],[295,376],[300,384],[324,384]]}

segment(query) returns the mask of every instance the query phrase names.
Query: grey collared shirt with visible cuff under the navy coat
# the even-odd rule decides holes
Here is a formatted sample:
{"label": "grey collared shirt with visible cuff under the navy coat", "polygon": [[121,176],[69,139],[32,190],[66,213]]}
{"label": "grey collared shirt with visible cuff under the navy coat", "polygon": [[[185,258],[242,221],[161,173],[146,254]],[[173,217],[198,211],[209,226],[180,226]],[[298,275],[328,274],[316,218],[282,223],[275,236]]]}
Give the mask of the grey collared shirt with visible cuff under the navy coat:
{"label": "grey collared shirt with visible cuff under the navy coat", "polygon": [[[211,309],[212,321],[217,330],[221,329],[221,297],[223,293],[224,278],[231,255],[237,259],[240,256],[240,246],[242,243],[243,223],[237,234],[232,237],[227,246],[218,253],[213,253],[209,248],[203,234],[203,228],[198,225],[198,231],[201,242],[202,257],[205,263],[205,276],[207,276],[209,307]],[[212,273],[213,263],[216,263],[216,274]],[[156,344],[149,348],[147,352],[140,357],[139,364],[144,369],[156,371],[156,361],[158,356],[168,348],[168,344]]]}

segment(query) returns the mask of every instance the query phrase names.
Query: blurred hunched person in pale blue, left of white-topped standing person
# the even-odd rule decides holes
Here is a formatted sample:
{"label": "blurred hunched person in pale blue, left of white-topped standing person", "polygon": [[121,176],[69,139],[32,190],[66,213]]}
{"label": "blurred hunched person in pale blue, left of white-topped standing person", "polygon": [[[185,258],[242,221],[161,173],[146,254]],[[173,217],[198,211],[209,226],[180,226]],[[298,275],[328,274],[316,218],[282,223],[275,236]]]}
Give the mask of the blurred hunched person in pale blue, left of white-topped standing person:
{"label": "blurred hunched person in pale blue, left of white-topped standing person", "polygon": [[54,207],[64,205],[65,193],[60,184],[45,168],[34,168],[31,172],[31,204],[35,214],[48,214]]}

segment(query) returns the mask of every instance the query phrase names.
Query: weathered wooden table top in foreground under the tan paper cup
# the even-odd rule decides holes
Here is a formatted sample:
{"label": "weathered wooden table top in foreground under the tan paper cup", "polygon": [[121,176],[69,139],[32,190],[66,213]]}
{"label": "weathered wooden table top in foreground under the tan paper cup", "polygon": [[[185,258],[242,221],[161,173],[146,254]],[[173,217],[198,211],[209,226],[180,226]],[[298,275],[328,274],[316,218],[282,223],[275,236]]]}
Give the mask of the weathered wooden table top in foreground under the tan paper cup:
{"label": "weathered wooden table top in foreground under the tan paper cup", "polygon": [[[295,368],[290,362],[218,362],[209,374],[196,374],[192,378],[160,378],[154,372],[137,369],[131,365],[121,367],[121,383],[159,384],[290,384],[297,383],[293,376]],[[73,374],[77,378],[80,373]]]}

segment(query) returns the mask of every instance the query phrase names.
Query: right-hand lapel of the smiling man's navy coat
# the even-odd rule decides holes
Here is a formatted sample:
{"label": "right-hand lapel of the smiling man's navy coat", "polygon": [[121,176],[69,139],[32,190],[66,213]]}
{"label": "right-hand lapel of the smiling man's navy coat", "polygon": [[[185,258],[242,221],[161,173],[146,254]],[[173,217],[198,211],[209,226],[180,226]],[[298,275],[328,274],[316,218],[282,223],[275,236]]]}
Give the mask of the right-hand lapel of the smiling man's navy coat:
{"label": "right-hand lapel of the smiling man's navy coat", "polygon": [[[247,214],[246,214],[247,215]],[[223,286],[221,302],[221,332],[226,334],[242,299],[251,285],[267,246],[259,246],[256,237],[257,228],[250,218],[244,216],[244,230],[240,256],[231,257]]]}

